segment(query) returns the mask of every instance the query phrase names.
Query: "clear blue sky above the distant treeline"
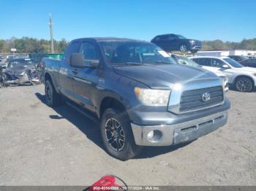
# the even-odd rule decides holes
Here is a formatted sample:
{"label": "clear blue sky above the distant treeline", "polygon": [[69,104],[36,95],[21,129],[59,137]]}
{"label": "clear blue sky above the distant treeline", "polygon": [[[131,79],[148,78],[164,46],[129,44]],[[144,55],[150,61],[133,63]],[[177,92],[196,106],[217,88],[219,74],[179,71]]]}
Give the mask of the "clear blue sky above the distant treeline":
{"label": "clear blue sky above the distant treeline", "polygon": [[0,39],[115,36],[150,41],[158,34],[240,42],[256,38],[255,0],[0,0]]}

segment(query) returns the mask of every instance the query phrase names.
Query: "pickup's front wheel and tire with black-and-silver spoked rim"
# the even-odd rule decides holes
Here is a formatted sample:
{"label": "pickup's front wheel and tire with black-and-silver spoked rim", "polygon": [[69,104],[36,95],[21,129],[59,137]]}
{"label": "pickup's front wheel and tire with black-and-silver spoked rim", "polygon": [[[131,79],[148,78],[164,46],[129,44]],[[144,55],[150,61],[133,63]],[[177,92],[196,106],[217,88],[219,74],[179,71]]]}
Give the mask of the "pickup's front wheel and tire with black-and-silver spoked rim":
{"label": "pickup's front wheel and tire with black-and-silver spoked rim", "polygon": [[102,115],[100,131],[109,155],[119,160],[129,160],[142,149],[135,144],[129,117],[118,109],[106,109]]}

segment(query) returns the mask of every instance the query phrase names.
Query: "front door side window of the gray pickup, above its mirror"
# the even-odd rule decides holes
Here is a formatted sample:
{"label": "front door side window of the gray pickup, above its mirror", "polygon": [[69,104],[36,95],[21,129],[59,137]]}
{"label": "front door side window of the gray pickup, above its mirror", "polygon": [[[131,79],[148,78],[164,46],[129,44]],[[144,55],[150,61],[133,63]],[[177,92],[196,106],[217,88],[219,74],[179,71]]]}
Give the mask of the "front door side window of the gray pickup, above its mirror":
{"label": "front door side window of the gray pickup, above its mirror", "polygon": [[99,51],[94,44],[83,42],[82,46],[80,47],[80,52],[83,53],[85,59],[99,60]]}

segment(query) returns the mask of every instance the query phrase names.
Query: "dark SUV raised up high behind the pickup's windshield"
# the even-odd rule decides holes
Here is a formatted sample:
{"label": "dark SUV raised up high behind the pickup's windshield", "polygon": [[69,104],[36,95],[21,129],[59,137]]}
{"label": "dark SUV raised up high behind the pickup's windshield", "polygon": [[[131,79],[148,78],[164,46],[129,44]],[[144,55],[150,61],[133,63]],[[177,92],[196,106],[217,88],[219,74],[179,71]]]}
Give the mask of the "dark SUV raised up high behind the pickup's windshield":
{"label": "dark SUV raised up high behind the pickup's windshield", "polygon": [[180,52],[197,52],[202,48],[202,43],[199,40],[187,39],[178,34],[162,34],[157,35],[151,40],[154,44],[161,47],[166,52],[180,51]]}

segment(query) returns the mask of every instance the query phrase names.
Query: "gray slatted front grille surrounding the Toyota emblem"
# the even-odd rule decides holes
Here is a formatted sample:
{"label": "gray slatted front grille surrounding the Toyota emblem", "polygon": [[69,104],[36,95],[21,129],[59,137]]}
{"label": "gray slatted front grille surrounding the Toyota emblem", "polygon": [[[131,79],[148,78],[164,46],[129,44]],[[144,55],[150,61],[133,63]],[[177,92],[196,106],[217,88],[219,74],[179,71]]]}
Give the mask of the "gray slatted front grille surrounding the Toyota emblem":
{"label": "gray slatted front grille surrounding the Toyota emblem", "polygon": [[[203,93],[209,93],[211,98],[203,101]],[[198,90],[186,90],[181,94],[180,112],[203,109],[208,106],[214,106],[223,101],[223,90],[221,86],[208,87]]]}

